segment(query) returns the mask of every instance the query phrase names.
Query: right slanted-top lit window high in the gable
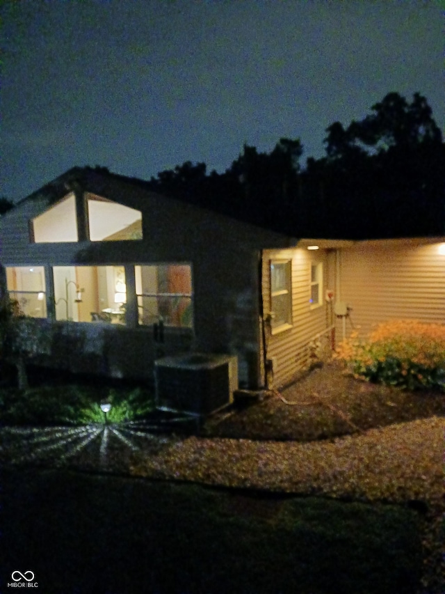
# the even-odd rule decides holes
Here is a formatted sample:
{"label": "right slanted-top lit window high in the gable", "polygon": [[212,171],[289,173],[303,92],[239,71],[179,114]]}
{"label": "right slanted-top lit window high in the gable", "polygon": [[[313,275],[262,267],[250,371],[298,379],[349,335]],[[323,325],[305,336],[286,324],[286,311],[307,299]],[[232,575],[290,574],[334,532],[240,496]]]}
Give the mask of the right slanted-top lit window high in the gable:
{"label": "right slanted-top lit window high in the gable", "polygon": [[87,194],[92,242],[141,240],[142,213],[122,204]]}

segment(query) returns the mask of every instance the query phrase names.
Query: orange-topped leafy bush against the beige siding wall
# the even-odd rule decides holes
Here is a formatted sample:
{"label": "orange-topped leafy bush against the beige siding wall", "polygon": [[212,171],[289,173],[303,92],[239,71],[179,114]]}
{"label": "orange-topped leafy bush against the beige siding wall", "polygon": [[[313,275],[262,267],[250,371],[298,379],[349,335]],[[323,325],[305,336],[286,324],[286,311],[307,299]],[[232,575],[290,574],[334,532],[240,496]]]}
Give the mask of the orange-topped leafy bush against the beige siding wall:
{"label": "orange-topped leafy bush against the beige siding wall", "polygon": [[359,339],[355,331],[336,358],[358,377],[409,390],[445,391],[445,325],[416,320],[384,322]]}

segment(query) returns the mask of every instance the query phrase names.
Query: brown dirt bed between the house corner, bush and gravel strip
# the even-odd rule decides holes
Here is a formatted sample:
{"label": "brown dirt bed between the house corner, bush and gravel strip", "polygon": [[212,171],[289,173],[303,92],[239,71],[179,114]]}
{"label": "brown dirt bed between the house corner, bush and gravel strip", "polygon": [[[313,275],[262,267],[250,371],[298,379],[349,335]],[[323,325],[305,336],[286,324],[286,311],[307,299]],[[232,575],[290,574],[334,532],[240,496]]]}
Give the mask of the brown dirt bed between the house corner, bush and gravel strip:
{"label": "brown dirt bed between the house corner, bush and gravel strip", "polygon": [[206,437],[314,441],[394,423],[445,416],[445,394],[408,392],[357,380],[336,362],[283,391],[238,403],[204,423]]}

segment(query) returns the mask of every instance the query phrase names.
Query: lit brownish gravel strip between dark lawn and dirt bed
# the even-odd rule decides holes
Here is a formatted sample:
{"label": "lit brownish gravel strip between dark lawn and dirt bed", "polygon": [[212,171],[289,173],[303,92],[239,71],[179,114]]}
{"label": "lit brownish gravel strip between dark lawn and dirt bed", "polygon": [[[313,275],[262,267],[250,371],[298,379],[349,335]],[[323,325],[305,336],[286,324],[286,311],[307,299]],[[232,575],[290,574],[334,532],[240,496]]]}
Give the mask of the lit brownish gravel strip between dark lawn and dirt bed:
{"label": "lit brownish gravel strip between dark lawn and dirt bed", "polygon": [[156,455],[133,453],[131,474],[437,507],[444,494],[444,432],[445,419],[432,417],[306,444],[188,437]]}

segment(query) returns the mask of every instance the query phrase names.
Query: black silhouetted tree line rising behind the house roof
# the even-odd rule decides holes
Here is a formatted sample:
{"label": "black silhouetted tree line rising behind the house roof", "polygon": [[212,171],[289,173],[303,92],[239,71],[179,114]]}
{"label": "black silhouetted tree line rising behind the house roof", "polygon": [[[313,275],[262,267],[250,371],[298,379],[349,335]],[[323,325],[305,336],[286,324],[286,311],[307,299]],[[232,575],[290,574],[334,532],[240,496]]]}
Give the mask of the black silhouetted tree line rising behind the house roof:
{"label": "black silhouetted tree line rising behind the house roof", "polygon": [[445,233],[445,145],[425,97],[389,93],[371,114],[326,130],[325,156],[300,166],[300,139],[245,145],[225,171],[186,162],[150,185],[296,237]]}

